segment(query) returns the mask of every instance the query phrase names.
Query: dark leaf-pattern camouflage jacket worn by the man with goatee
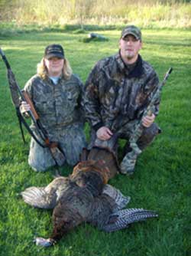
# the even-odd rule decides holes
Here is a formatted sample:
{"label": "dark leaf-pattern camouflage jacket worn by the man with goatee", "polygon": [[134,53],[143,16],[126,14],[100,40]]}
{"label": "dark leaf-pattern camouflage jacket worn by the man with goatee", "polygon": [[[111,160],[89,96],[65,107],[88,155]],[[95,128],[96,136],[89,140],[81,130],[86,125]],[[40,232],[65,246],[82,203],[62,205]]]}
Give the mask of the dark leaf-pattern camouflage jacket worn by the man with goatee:
{"label": "dark leaf-pattern camouflage jacket worn by the man with goatee", "polygon": [[[123,123],[141,119],[159,85],[153,67],[141,56],[129,71],[120,53],[107,57],[92,69],[86,80],[83,107],[90,125],[98,130],[107,126],[113,132]],[[155,115],[160,99],[156,100]]]}

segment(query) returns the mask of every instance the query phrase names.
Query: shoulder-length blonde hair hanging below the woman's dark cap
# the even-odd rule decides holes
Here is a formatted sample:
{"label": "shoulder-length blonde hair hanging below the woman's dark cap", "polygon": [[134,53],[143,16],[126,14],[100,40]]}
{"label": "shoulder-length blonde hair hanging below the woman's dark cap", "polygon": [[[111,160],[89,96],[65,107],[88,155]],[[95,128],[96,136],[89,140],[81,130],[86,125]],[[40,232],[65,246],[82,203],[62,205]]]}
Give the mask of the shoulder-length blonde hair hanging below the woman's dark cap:
{"label": "shoulder-length blonde hair hanging below the woman's dark cap", "polygon": [[[37,64],[37,74],[43,79],[45,79],[48,75],[47,67],[44,64],[44,57],[42,58],[40,63]],[[63,77],[66,80],[69,80],[72,74],[73,74],[73,70],[70,67],[70,63],[66,58],[64,58],[63,59]]]}

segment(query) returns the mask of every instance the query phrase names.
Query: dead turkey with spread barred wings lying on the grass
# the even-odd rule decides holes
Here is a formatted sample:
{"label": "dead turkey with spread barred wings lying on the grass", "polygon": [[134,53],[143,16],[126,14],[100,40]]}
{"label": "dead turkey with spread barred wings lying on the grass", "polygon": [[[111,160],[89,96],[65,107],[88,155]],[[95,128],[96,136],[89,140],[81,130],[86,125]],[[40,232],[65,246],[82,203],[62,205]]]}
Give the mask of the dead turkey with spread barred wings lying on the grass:
{"label": "dead turkey with spread barred wings lying on the grass", "polygon": [[46,187],[31,187],[21,195],[35,208],[53,209],[53,231],[50,238],[36,238],[36,244],[54,245],[68,231],[89,222],[103,231],[127,228],[132,222],[157,217],[142,208],[123,209],[130,198],[106,184],[118,172],[115,155],[108,149],[93,147],[83,152],[82,162],[69,177],[53,179]]}

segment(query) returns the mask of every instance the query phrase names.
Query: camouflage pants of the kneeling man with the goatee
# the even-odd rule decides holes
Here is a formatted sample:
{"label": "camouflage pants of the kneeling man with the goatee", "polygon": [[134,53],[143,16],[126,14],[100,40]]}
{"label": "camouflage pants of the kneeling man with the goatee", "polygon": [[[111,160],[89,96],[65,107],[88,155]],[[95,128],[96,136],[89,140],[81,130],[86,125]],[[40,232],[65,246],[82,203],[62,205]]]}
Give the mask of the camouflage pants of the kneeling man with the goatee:
{"label": "camouflage pants of the kneeling man with the goatee", "polygon": [[[108,140],[101,140],[96,139],[96,133],[95,130],[91,131],[91,140],[89,143],[89,149],[92,148],[92,146],[105,146],[109,149],[112,149],[115,153],[117,153],[118,149],[118,139],[127,139],[127,143],[125,145],[125,153],[128,153],[131,151],[131,148],[128,143],[128,139],[131,137],[131,134],[134,133],[135,126],[137,125],[138,120],[128,122],[125,126],[121,127],[120,130],[118,130],[117,133],[115,133],[111,139]],[[150,127],[144,127],[143,133],[141,137],[138,139],[138,147],[143,150],[148,145],[151,144],[151,142],[154,140],[155,136],[160,132],[160,128],[157,126],[156,123],[153,123]]]}

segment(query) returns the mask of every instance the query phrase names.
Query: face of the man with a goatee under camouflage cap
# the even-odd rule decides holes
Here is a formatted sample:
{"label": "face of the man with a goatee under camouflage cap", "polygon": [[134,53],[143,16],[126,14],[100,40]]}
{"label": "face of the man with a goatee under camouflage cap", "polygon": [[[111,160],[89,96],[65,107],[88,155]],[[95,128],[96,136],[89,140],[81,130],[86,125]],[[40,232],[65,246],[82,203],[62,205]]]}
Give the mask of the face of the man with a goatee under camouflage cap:
{"label": "face of the man with a goatee under camouflage cap", "polygon": [[138,52],[142,48],[142,42],[134,38],[134,35],[128,34],[119,41],[119,48],[123,61],[127,64],[133,64],[137,61]]}

